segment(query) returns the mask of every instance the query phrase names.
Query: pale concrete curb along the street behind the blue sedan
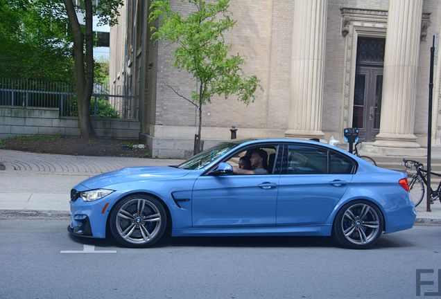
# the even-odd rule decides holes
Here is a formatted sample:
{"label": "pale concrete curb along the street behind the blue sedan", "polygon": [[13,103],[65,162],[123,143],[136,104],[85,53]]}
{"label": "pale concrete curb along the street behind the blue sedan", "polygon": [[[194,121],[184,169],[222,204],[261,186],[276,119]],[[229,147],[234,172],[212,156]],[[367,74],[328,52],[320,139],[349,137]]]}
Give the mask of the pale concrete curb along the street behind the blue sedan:
{"label": "pale concrete curb along the street behind the blue sedan", "polygon": [[[26,219],[69,219],[70,213],[60,210],[0,210],[0,220],[12,218]],[[441,226],[441,219],[417,218],[417,226]]]}

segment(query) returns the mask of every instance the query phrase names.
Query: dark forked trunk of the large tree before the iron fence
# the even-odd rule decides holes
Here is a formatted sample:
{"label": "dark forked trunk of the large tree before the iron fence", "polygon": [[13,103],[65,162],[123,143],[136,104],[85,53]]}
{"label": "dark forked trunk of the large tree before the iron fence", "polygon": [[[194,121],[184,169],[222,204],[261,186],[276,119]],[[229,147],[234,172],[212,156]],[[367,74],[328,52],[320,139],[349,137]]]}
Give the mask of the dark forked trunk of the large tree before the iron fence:
{"label": "dark forked trunk of the large tree before the iron fence", "polygon": [[[76,16],[74,2],[63,0],[66,8],[69,25],[74,36],[74,66],[76,81],[76,99],[78,103],[78,123],[81,138],[96,137],[92,121],[90,120],[90,98],[94,85],[94,53],[92,31],[92,0],[85,0],[86,8],[86,68],[84,57],[84,35]],[[86,73],[87,70],[87,73]]]}

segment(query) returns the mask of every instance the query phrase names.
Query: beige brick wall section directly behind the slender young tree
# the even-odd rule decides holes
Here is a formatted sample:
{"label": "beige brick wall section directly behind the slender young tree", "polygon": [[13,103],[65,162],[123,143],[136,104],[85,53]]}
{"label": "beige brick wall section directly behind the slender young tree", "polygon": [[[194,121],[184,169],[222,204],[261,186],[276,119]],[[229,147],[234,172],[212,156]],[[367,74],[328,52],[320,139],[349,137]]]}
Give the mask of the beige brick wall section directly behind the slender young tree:
{"label": "beige brick wall section directly behind the slender young tree", "polygon": [[[189,11],[189,6],[178,4],[181,11]],[[248,107],[234,96],[227,100],[213,98],[211,104],[202,108],[205,126],[266,127],[272,6],[273,1],[232,1],[233,17],[238,24],[226,35],[227,42],[233,44],[232,53],[246,57],[245,73],[258,75],[264,91],[257,91],[255,102]],[[178,72],[171,65],[173,46],[165,47],[164,43],[160,43],[158,51],[156,124],[195,125],[195,107],[164,84],[170,84],[182,96],[190,98],[191,90],[197,88],[196,83],[189,75]]]}

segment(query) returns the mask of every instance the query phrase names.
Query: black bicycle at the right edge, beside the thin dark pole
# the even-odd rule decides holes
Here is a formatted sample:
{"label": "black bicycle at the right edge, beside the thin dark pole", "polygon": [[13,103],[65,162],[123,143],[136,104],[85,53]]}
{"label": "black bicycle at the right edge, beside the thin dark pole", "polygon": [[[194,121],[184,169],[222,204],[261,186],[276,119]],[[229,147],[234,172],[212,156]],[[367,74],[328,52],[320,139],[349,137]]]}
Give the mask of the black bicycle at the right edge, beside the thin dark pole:
{"label": "black bicycle at the right edge, beside the thin dark pole", "polygon": [[[412,199],[413,203],[415,203],[415,206],[418,206],[424,198],[424,193],[426,192],[427,170],[424,170],[424,165],[421,162],[406,159],[403,159],[403,162],[404,166],[406,167],[406,172],[408,169],[410,170],[412,169],[412,167],[415,167],[416,173],[413,174],[409,183],[409,194],[410,199]],[[441,176],[441,174],[435,172],[431,172],[431,175]],[[431,204],[434,203],[437,199],[439,199],[441,202],[440,191],[441,181],[438,184],[438,188],[436,188],[436,190],[433,190],[431,186]]]}

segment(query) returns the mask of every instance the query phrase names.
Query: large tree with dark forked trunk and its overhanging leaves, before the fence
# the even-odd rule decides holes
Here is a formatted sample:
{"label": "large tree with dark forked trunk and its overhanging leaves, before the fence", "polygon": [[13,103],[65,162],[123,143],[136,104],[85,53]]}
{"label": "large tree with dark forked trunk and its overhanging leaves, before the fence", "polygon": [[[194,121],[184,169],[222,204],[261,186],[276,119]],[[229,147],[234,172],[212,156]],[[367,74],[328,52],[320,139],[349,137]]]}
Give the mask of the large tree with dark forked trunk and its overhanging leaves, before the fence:
{"label": "large tree with dark forked trunk and its overhanging leaves, before the fence", "polygon": [[[52,10],[59,10],[58,0],[52,0]],[[123,6],[123,0],[101,0],[94,6],[92,0],[83,0],[83,8],[75,5],[74,0],[62,0],[64,12],[69,19],[74,40],[72,53],[74,54],[74,69],[76,81],[76,97],[78,100],[78,123],[82,138],[96,136],[90,120],[90,99],[94,87],[94,34],[92,30],[92,16],[98,15],[101,24],[117,23],[118,9]],[[80,26],[76,12],[82,10],[85,15],[85,31]]]}

